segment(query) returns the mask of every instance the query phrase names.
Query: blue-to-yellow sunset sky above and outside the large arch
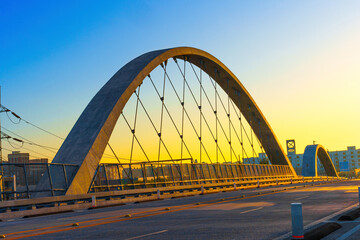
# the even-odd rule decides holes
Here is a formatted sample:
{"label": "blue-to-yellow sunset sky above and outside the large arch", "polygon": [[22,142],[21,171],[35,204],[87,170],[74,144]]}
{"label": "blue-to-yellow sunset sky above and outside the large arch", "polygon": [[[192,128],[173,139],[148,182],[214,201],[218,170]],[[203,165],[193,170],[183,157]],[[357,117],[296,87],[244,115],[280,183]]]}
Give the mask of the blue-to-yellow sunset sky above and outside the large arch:
{"label": "blue-to-yellow sunset sky above and outside the large arch", "polygon": [[[239,78],[284,148],[287,139],[295,139],[297,153],[313,141],[330,151],[359,148],[359,12],[355,0],[3,0],[1,103],[65,138],[127,62],[190,46],[214,55]],[[12,123],[5,113],[0,117],[3,127],[32,142],[54,149],[62,143],[25,122]],[[6,141],[3,147],[3,155],[15,150]],[[24,147],[33,157],[55,154]]]}

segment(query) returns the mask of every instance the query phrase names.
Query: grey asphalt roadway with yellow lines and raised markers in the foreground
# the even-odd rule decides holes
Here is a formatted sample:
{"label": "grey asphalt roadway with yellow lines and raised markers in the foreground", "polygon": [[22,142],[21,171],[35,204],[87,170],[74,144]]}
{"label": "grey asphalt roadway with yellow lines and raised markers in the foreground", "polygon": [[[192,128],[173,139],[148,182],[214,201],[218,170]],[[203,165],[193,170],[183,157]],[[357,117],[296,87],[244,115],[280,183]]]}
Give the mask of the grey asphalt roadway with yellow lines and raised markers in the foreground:
{"label": "grey asphalt roadway with yellow lines and raised markers in the foreground", "polygon": [[358,203],[360,181],[302,185],[10,219],[0,224],[0,234],[6,239],[283,239],[291,231],[293,202],[303,203],[307,227]]}

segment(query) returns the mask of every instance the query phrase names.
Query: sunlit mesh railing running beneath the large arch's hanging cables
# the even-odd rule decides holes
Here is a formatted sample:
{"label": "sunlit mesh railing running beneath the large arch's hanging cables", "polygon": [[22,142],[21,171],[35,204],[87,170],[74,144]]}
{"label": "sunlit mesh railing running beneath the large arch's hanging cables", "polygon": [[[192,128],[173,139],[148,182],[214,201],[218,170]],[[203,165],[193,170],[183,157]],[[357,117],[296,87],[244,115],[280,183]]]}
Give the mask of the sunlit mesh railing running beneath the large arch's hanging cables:
{"label": "sunlit mesh railing running beneath the large arch's hanging cables", "polygon": [[89,192],[292,177],[289,166],[239,163],[102,163]]}

